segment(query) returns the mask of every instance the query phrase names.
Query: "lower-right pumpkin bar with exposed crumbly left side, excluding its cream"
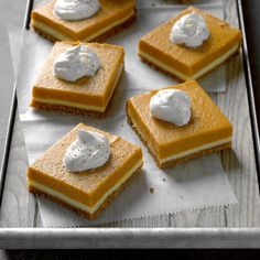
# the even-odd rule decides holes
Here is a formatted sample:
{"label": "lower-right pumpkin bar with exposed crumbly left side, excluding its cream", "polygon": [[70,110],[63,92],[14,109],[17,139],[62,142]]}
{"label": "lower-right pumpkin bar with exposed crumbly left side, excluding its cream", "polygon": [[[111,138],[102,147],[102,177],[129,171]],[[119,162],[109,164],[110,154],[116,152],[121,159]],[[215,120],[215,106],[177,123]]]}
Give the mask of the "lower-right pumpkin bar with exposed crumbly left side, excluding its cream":
{"label": "lower-right pumpkin bar with exposed crumbly left side, excluding its cream", "polygon": [[165,89],[171,88],[183,90],[191,98],[192,117],[185,126],[177,127],[151,116],[150,99],[159,90],[134,96],[127,102],[131,126],[160,167],[231,147],[231,123],[196,82]]}

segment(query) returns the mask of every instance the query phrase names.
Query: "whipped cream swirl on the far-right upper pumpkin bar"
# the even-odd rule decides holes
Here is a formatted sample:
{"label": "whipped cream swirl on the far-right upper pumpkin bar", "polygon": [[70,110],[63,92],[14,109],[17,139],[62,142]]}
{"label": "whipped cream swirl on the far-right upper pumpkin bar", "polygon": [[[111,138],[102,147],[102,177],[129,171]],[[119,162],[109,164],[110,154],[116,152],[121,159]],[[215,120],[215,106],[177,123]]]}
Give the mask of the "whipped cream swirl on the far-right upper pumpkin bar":
{"label": "whipped cream swirl on the far-right upper pumpkin bar", "polygon": [[202,15],[191,12],[178,19],[172,26],[170,40],[187,47],[198,47],[209,36],[209,31]]}

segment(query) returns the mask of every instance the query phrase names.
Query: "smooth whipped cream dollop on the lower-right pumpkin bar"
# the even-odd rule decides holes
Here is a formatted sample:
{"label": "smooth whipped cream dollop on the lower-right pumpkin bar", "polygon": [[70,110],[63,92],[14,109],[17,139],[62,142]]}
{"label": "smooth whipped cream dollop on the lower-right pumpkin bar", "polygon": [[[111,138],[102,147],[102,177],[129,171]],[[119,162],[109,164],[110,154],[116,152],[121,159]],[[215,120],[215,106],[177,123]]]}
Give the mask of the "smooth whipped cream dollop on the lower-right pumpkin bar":
{"label": "smooth whipped cream dollop on the lower-right pumpkin bar", "polygon": [[192,113],[189,96],[180,89],[160,90],[150,100],[150,111],[154,118],[184,126]]}

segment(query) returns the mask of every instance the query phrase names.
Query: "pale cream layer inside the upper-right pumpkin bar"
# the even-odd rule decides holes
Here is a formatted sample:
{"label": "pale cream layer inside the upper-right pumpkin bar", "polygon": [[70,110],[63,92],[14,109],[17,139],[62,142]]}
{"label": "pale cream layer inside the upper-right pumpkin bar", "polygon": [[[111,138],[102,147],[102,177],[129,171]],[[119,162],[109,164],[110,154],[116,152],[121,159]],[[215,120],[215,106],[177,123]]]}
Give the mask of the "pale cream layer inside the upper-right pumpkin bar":
{"label": "pale cream layer inside the upper-right pumpkin bar", "polygon": [[158,61],[156,58],[142,52],[141,50],[139,50],[139,55],[144,57],[147,61],[155,64],[158,67],[161,67],[163,71],[176,75],[178,78],[181,78],[183,80],[191,80],[191,79],[197,79],[197,78],[202,77],[207,72],[210,72],[213,68],[215,68],[218,65],[220,65],[221,63],[224,63],[228,57],[230,57],[234,53],[236,53],[236,51],[238,50],[239,46],[240,46],[239,44],[236,44],[232,48],[230,48],[228,52],[226,52],[223,56],[216,58],[213,63],[210,63],[208,66],[204,67],[203,69],[201,69],[199,72],[197,72],[193,76],[187,76],[187,75],[176,71],[175,68],[162,63],[161,61]]}

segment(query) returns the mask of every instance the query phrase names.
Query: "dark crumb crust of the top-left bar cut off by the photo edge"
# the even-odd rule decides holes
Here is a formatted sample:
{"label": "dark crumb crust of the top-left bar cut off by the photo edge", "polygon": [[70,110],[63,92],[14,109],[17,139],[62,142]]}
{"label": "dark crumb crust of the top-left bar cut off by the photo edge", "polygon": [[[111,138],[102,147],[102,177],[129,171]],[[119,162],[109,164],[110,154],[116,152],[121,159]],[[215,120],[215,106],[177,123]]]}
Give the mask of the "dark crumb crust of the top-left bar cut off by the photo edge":
{"label": "dark crumb crust of the top-left bar cut off by the photo edge", "polygon": [[[136,19],[137,19],[137,9],[134,9],[133,15],[130,17],[126,22],[123,22],[123,23],[110,29],[109,31],[105,32],[104,34],[93,39],[90,42],[100,42],[100,41],[105,40],[106,37],[109,37],[113,34],[117,34],[117,33],[121,32],[124,29],[128,29],[136,21]],[[51,41],[53,43],[55,43],[56,41],[62,41],[62,40],[56,39],[55,36],[51,35],[51,34],[47,34],[47,33],[43,32],[42,30],[40,30],[37,28],[34,28],[33,25],[32,25],[32,28],[37,34],[40,34],[41,36],[47,39],[48,41]],[[84,41],[84,40],[77,39],[77,40],[73,40],[73,41]]]}

